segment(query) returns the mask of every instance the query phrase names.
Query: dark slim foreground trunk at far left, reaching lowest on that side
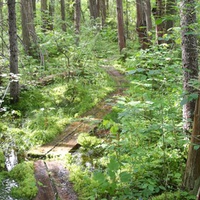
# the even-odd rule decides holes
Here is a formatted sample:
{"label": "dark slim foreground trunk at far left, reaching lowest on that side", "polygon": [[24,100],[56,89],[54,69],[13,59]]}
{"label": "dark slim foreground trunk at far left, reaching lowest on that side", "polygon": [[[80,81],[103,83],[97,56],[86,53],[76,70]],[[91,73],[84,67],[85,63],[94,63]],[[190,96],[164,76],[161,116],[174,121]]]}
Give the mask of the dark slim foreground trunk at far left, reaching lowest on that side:
{"label": "dark slim foreground trunk at far left, reaching lowest on that side", "polygon": [[11,103],[16,103],[19,100],[19,82],[18,75],[18,45],[17,45],[17,26],[15,0],[8,0],[8,23],[9,23],[9,43],[10,43],[10,97]]}

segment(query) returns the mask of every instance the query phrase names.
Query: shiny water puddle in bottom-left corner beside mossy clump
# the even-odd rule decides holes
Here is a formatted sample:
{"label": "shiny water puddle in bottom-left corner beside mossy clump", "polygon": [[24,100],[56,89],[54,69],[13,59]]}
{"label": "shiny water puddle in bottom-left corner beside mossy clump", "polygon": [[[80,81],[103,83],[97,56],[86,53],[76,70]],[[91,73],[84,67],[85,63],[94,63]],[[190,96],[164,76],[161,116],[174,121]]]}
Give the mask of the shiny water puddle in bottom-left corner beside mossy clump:
{"label": "shiny water puddle in bottom-left corner beside mossy clump", "polygon": [[10,191],[13,187],[17,187],[17,183],[14,180],[3,180],[0,183],[0,200],[22,200],[11,197]]}

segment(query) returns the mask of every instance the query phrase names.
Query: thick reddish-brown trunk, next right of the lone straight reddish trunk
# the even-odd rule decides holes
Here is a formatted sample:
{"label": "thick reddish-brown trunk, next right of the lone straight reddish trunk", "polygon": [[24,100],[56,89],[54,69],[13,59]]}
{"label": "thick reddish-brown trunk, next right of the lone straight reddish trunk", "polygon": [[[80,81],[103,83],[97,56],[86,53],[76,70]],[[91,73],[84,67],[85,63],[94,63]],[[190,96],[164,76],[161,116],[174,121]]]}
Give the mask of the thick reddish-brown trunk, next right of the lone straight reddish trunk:
{"label": "thick reddish-brown trunk, next right of the lone straight reddish trunk", "polygon": [[137,11],[137,33],[139,42],[142,49],[148,47],[147,39],[147,26],[146,26],[146,16],[143,0],[136,0],[136,11]]}

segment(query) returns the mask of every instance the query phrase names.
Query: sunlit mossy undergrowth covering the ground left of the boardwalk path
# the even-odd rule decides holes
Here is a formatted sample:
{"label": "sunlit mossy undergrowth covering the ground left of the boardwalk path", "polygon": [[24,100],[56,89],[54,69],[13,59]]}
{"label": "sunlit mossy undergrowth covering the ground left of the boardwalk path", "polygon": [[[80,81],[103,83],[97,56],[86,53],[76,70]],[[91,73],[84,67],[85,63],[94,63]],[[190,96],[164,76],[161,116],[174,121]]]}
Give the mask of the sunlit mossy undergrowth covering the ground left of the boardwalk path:
{"label": "sunlit mossy undergrowth covering the ground left of the boardwalk path", "polygon": [[[24,162],[26,152],[53,140],[67,124],[79,120],[83,113],[114,90],[115,82],[101,68],[110,64],[109,60],[102,60],[107,53],[96,49],[108,41],[103,33],[93,37],[96,34],[93,32],[91,38],[84,36],[86,40],[76,46],[73,35],[39,33],[42,58],[20,54],[20,100],[15,105],[10,105],[6,90],[8,68],[2,70],[0,169],[6,169],[5,152],[16,152],[19,164],[10,172],[19,183],[19,187],[12,190],[16,197],[31,199],[36,195],[32,164]],[[115,46],[109,45],[111,51]],[[21,47],[20,51],[23,51]]]}

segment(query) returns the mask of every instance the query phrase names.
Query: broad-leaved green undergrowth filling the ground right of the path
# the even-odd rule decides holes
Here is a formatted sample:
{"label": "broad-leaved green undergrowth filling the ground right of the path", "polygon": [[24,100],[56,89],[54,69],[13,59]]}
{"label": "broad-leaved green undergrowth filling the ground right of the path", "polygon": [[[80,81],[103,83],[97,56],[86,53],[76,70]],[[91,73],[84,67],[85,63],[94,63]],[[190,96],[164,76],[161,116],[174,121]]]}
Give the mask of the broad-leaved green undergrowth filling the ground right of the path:
{"label": "broad-leaved green undergrowth filling the ground right of the path", "polygon": [[195,199],[181,191],[189,139],[182,134],[179,56],[161,45],[126,59],[130,87],[102,124],[110,134],[92,146],[94,136],[81,136],[82,161],[68,159],[80,199]]}

